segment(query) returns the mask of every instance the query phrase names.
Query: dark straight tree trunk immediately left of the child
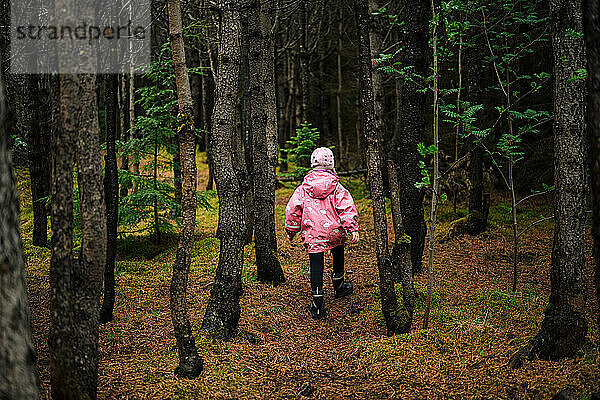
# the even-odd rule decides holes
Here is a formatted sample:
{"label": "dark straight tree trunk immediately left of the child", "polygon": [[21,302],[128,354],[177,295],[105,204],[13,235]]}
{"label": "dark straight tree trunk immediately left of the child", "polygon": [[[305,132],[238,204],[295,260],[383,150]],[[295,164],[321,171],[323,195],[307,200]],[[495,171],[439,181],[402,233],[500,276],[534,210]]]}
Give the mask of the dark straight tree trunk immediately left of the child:
{"label": "dark straight tree trunk immediately left of the child", "polygon": [[275,236],[277,115],[275,53],[269,17],[273,12],[272,6],[272,2],[261,5],[257,0],[249,4],[248,66],[257,279],[259,282],[278,285],[285,278],[277,258]]}

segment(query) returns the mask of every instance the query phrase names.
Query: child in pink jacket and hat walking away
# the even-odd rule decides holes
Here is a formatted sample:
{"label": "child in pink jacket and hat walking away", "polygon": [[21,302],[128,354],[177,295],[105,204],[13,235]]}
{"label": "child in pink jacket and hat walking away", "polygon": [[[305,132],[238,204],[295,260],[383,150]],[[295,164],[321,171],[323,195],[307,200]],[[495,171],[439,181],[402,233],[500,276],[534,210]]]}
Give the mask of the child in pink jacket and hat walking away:
{"label": "child in pink jacket and hat walking away", "polygon": [[285,229],[288,238],[301,232],[310,260],[313,318],[326,315],[323,297],[324,252],[333,256],[334,296],[345,297],[354,291],[351,282],[344,279],[344,243],[351,238],[358,242],[358,212],[350,192],[339,183],[334,170],[333,152],[327,147],[316,149],[311,157],[313,170],[302,185],[294,191],[285,208]]}

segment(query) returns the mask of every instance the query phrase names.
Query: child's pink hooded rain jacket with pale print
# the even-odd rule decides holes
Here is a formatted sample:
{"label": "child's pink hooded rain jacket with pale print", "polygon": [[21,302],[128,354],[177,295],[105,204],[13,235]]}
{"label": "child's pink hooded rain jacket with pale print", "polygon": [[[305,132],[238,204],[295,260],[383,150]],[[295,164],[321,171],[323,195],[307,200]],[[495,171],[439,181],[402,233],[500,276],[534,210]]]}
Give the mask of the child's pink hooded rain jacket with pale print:
{"label": "child's pink hooded rain jacket with pale print", "polygon": [[346,242],[358,231],[358,212],[350,192],[327,170],[313,170],[285,208],[285,229],[302,233],[309,253],[321,253]]}

